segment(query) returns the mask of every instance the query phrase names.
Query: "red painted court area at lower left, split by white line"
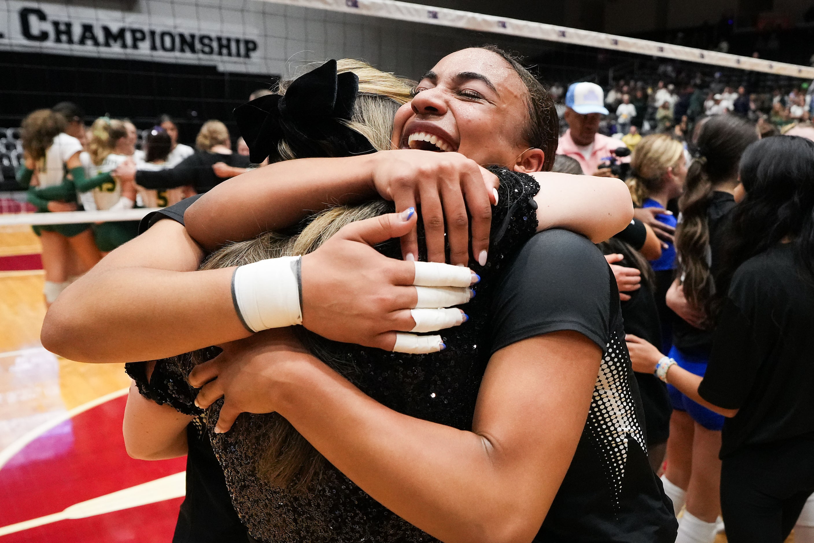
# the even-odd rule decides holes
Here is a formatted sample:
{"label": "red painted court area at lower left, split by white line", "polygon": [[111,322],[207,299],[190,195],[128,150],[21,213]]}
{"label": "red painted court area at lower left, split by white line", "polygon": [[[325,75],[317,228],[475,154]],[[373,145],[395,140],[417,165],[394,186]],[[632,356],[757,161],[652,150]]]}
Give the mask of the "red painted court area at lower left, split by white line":
{"label": "red painted court area at lower left, split by white line", "polygon": [[[186,468],[127,456],[121,435],[127,396],[77,414],[26,445],[0,470],[0,526],[37,519],[80,501]],[[68,519],[2,536],[2,543],[168,543],[183,498],[87,519]]]}

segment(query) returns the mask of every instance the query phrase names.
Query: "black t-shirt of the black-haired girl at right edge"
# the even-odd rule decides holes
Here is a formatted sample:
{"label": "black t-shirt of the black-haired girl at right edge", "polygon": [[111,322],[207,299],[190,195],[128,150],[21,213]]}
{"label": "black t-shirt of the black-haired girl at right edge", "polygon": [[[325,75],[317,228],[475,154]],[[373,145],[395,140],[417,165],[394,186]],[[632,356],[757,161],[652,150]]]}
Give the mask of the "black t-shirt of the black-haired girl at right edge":
{"label": "black t-shirt of the black-haired girl at right edge", "polygon": [[724,302],[698,393],[739,409],[724,423],[721,458],[814,431],[814,287],[791,244],[744,262]]}

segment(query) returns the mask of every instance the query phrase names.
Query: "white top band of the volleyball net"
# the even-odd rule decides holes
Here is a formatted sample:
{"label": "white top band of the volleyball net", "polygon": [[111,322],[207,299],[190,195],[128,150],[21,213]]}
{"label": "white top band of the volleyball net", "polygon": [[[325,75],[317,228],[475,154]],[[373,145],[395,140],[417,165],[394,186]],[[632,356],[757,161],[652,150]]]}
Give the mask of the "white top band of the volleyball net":
{"label": "white top band of the volleyball net", "polygon": [[340,11],[368,15],[383,19],[436,24],[450,28],[466,28],[479,32],[527,37],[548,42],[569,43],[596,47],[638,55],[650,55],[665,59],[711,64],[726,68],[773,73],[780,76],[814,79],[814,67],[798,64],[755,59],[741,55],[729,55],[718,51],[676,46],[669,43],[651,42],[636,37],[614,36],[590,30],[568,28],[555,24],[535,23],[527,20],[508,19],[497,15],[484,15],[471,11],[452,10],[445,7],[422,6],[396,0],[263,0],[264,2],[296,7]]}

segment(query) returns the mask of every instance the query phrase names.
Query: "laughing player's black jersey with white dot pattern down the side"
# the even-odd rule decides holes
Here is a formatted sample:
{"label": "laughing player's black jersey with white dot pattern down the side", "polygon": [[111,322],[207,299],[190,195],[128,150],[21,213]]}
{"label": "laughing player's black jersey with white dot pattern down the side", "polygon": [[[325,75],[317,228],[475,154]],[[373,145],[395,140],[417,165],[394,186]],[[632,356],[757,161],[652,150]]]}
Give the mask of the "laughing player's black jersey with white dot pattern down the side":
{"label": "laughing player's black jersey with white dot pattern down the side", "polygon": [[498,285],[492,323],[493,352],[571,330],[604,353],[580,444],[535,541],[675,541],[672,503],[647,461],[619,293],[597,247],[566,230],[536,234]]}

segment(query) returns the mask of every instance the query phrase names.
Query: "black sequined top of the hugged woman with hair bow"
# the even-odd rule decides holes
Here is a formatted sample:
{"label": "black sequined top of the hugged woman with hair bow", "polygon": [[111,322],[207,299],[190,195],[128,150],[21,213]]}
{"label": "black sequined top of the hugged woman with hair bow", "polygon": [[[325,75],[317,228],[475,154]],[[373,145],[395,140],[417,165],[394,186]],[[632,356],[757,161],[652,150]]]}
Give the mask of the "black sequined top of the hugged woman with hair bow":
{"label": "black sequined top of the hugged woman with hair bow", "polygon": [[[356,344],[323,339],[300,329],[300,339],[315,353],[327,353],[326,363],[362,392],[402,414],[469,430],[475,400],[491,352],[489,308],[496,275],[510,264],[523,243],[536,232],[539,184],[524,174],[492,170],[501,177],[499,201],[492,208],[492,233],[488,263],[470,268],[479,274],[476,296],[466,304],[469,321],[441,331],[447,348],[440,353],[410,355],[388,353]],[[419,221],[420,222],[420,221]],[[426,247],[420,240],[420,251]],[[398,240],[377,247],[400,258]],[[470,258],[470,261],[475,261]],[[212,348],[212,356],[217,353]],[[186,383],[193,363],[186,357],[181,367],[158,361],[151,383],[144,379],[143,362],[128,365],[139,392],[154,401],[173,405],[186,414],[200,414],[193,405],[196,390]],[[275,487],[257,475],[257,442],[246,432],[262,428],[265,417],[242,414],[239,431],[214,434],[221,402],[208,412],[209,436],[229,487],[235,509],[249,534],[257,541],[436,541],[394,515],[326,462],[321,477],[305,493]]]}

